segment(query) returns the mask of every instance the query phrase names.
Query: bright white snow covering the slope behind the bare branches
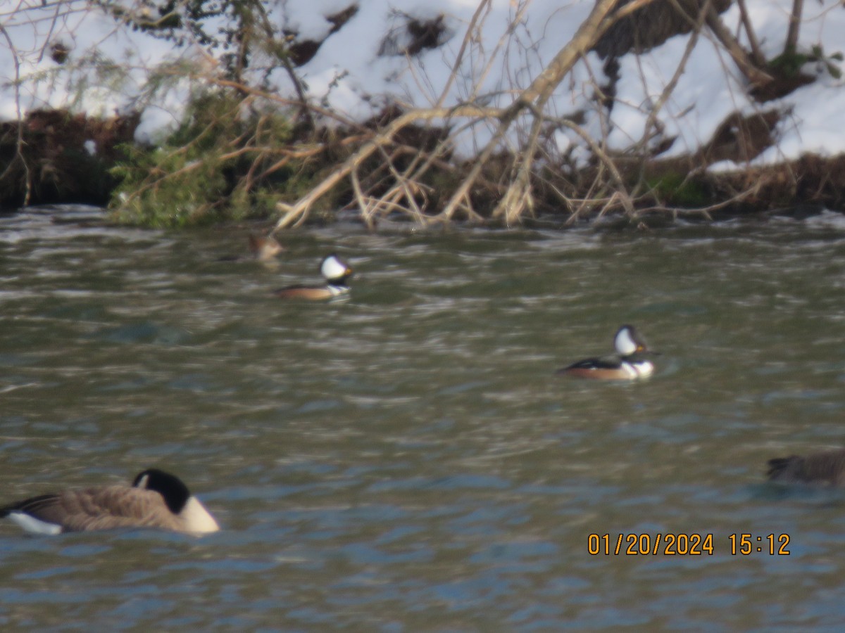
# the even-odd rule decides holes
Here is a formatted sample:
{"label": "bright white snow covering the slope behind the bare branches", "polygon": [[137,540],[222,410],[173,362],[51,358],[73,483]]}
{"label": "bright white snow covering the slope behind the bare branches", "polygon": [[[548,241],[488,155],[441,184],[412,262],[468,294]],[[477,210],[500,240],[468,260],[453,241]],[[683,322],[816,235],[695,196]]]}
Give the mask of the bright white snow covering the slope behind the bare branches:
{"label": "bright white snow covering the slope behind the bare branches", "polygon": [[[481,12],[454,81],[450,73],[479,0],[357,0],[358,10],[340,30],[330,34],[328,17],[348,8],[354,0],[276,0],[268,3],[272,24],[297,32],[297,40],[324,40],[316,55],[297,74],[317,102],[342,116],[363,120],[378,112],[388,100],[408,106],[444,106],[482,99],[491,106],[510,102],[526,88],[586,19],[593,0],[492,0]],[[750,19],[766,57],[782,51],[793,0],[747,0]],[[144,3],[123,0],[129,11],[144,11]],[[420,20],[444,16],[444,44],[416,57],[379,54],[385,37],[406,44],[400,27],[402,15]],[[518,18],[518,19],[517,19]],[[511,24],[517,19],[512,31]],[[739,9],[734,4],[722,14],[732,33],[740,33]],[[221,50],[204,51],[196,42],[176,46],[143,31],[129,30],[85,0],[63,0],[42,6],[41,0],[17,0],[0,5],[0,119],[12,120],[22,112],[43,107],[68,107],[95,115],[126,113],[144,106],[136,137],[161,138],[174,127],[187,101],[188,81],[150,98],[144,91],[147,73],[162,63],[202,62],[213,66]],[[224,24],[212,25],[221,28]],[[838,0],[805,3],[799,50],[820,46],[826,56],[845,49],[845,8]],[[679,72],[692,35],[677,35],[640,56],[622,57],[617,103],[611,121],[593,99],[595,83],[602,84],[602,60],[587,55],[559,86],[551,104],[557,116],[584,111],[587,133],[601,138],[609,133],[612,149],[638,142],[661,102],[667,85],[677,80],[657,120],[667,137],[677,137],[664,155],[695,151],[733,111],[750,114],[779,108],[789,114],[779,126],[777,147],[766,150],[755,164],[794,159],[806,152],[824,155],[845,151],[845,81],[832,77],[824,64],[810,63],[804,72],[817,74],[814,84],[793,91],[781,100],[758,104],[744,94],[744,79],[733,60],[709,31],[702,33]],[[325,38],[325,39],[324,39]],[[51,58],[50,47],[62,42],[70,49],[68,63]],[[128,68],[128,73],[97,76],[88,67],[68,73],[86,57],[96,55]],[[832,60],[831,60],[832,61]],[[16,68],[16,62],[19,68]],[[838,63],[833,61],[834,63]],[[845,68],[845,64],[841,65]],[[260,63],[255,64],[256,73]],[[15,79],[20,76],[19,89]],[[676,77],[677,75],[677,77]],[[283,69],[268,80],[280,95],[293,96],[290,78]],[[472,154],[488,138],[488,126],[461,134],[463,154]],[[556,134],[563,151],[575,145],[583,154],[584,142],[575,133]],[[717,169],[728,167],[723,162]]]}

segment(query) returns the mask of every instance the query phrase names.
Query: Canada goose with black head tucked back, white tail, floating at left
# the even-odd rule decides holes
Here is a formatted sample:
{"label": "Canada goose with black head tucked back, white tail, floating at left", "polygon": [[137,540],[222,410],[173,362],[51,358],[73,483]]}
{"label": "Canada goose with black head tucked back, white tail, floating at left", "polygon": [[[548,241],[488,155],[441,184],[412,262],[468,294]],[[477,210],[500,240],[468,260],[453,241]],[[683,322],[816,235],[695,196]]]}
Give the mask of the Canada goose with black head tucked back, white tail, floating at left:
{"label": "Canada goose with black head tucked back, white tail, floating at left", "polygon": [[139,473],[132,487],[108,485],[39,495],[0,508],[27,532],[58,534],[115,527],[160,527],[183,533],[220,529],[181,479],[157,468]]}

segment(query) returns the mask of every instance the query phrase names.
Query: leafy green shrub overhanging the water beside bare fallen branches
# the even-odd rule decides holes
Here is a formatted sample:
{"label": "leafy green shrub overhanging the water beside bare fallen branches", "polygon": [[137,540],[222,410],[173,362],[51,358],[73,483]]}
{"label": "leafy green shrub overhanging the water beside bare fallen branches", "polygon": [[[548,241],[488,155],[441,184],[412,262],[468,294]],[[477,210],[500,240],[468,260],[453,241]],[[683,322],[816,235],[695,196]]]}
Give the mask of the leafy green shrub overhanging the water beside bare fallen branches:
{"label": "leafy green shrub overhanging the water beside bare fallen branches", "polygon": [[292,134],[286,111],[259,111],[235,90],[204,90],[160,146],[123,146],[112,169],[114,217],[162,228],[273,214],[313,178],[302,160],[284,160]]}

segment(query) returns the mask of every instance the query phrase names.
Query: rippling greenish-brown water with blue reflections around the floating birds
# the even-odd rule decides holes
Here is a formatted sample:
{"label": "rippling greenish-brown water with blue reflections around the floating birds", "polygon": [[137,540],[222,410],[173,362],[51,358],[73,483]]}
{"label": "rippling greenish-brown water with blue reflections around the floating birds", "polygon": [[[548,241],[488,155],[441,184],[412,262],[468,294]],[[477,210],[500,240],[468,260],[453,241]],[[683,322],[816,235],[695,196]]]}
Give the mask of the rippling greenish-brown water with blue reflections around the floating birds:
{"label": "rippling greenish-brown water with blue reflections around the floating birds", "polygon": [[[282,241],[274,269],[216,261],[237,232],[0,219],[3,499],[158,466],[224,527],[3,524],[4,629],[845,621],[845,494],[763,483],[770,457],[845,446],[841,216]],[[331,251],[351,300],[270,294]],[[650,380],[553,375],[624,322],[662,351]],[[713,553],[590,555],[591,533]],[[790,553],[732,555],[742,533]]]}

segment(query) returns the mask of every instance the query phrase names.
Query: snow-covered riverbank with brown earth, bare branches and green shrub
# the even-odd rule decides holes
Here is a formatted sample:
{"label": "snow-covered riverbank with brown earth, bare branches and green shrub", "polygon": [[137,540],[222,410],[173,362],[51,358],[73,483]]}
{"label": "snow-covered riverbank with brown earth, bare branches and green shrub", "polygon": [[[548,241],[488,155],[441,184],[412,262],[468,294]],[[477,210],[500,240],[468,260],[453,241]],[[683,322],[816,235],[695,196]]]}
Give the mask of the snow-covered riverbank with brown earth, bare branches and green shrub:
{"label": "snow-covered riverbank with brown earth, bare branches and green shrub", "polygon": [[[41,8],[5,15],[19,79],[0,114],[20,113],[0,127],[6,207],[109,203],[134,224],[277,229],[341,208],[368,224],[497,225],[842,209],[838,3],[791,19],[787,0],[630,15],[607,2],[439,0],[407,14],[325,2],[274,9],[261,33],[242,15],[150,25],[62,6],[79,9],[74,46],[69,23],[25,41]],[[200,27],[205,45],[179,38]],[[252,39],[226,57],[225,32]],[[133,63],[118,52],[129,44]],[[79,93],[104,64],[110,87]]]}

